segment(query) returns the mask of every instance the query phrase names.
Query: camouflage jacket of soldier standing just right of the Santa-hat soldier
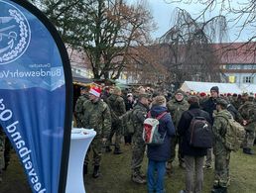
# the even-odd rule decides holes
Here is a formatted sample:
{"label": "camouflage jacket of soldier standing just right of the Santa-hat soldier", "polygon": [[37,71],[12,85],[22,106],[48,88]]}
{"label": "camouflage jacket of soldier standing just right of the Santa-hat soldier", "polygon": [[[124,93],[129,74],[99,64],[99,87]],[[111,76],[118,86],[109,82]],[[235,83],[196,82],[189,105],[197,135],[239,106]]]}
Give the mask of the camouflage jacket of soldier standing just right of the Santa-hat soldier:
{"label": "camouflage jacket of soldier standing just right of the Santa-hat soldier", "polygon": [[112,121],[117,121],[118,117],[126,112],[124,99],[118,95],[112,94],[108,97],[107,104],[111,111]]}

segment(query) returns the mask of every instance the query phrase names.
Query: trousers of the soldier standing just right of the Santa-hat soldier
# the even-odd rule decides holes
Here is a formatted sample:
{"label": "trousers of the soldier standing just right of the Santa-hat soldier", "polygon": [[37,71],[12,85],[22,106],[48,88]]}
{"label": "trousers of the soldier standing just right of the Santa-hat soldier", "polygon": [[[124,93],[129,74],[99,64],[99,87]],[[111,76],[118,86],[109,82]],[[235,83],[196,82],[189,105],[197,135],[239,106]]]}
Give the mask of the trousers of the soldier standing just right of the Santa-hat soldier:
{"label": "trousers of the soldier standing just right of the Santa-hat soldier", "polygon": [[111,145],[111,141],[114,134],[115,134],[115,147],[120,148],[121,139],[122,139],[122,124],[120,122],[112,123],[111,131],[107,139],[106,146]]}

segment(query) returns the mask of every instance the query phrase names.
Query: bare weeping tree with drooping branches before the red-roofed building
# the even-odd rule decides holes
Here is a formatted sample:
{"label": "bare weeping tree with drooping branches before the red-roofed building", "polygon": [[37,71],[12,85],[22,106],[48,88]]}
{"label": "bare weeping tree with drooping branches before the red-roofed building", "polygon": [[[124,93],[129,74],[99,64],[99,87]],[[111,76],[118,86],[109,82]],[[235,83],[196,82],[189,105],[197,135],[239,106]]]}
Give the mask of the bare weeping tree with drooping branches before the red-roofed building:
{"label": "bare weeping tree with drooping branches before the red-roofed building", "polygon": [[185,80],[218,81],[218,58],[211,43],[225,37],[225,18],[217,16],[199,23],[179,8],[173,18],[174,26],[159,40],[169,49],[164,63],[169,67],[170,81],[177,86]]}

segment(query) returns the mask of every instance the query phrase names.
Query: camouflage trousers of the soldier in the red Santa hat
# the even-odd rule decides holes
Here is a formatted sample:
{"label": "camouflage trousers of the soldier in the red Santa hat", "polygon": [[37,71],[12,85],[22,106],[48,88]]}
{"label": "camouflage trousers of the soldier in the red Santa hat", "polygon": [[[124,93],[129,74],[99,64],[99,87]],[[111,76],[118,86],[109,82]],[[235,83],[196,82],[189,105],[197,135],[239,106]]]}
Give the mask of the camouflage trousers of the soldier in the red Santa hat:
{"label": "camouflage trousers of the soldier in the red Santa hat", "polygon": [[99,136],[96,136],[93,141],[91,142],[91,144],[88,147],[86,156],[85,156],[85,164],[89,163],[89,153],[92,150],[92,164],[93,165],[100,165],[100,161],[101,161],[101,150],[102,150],[102,141],[101,138]]}

